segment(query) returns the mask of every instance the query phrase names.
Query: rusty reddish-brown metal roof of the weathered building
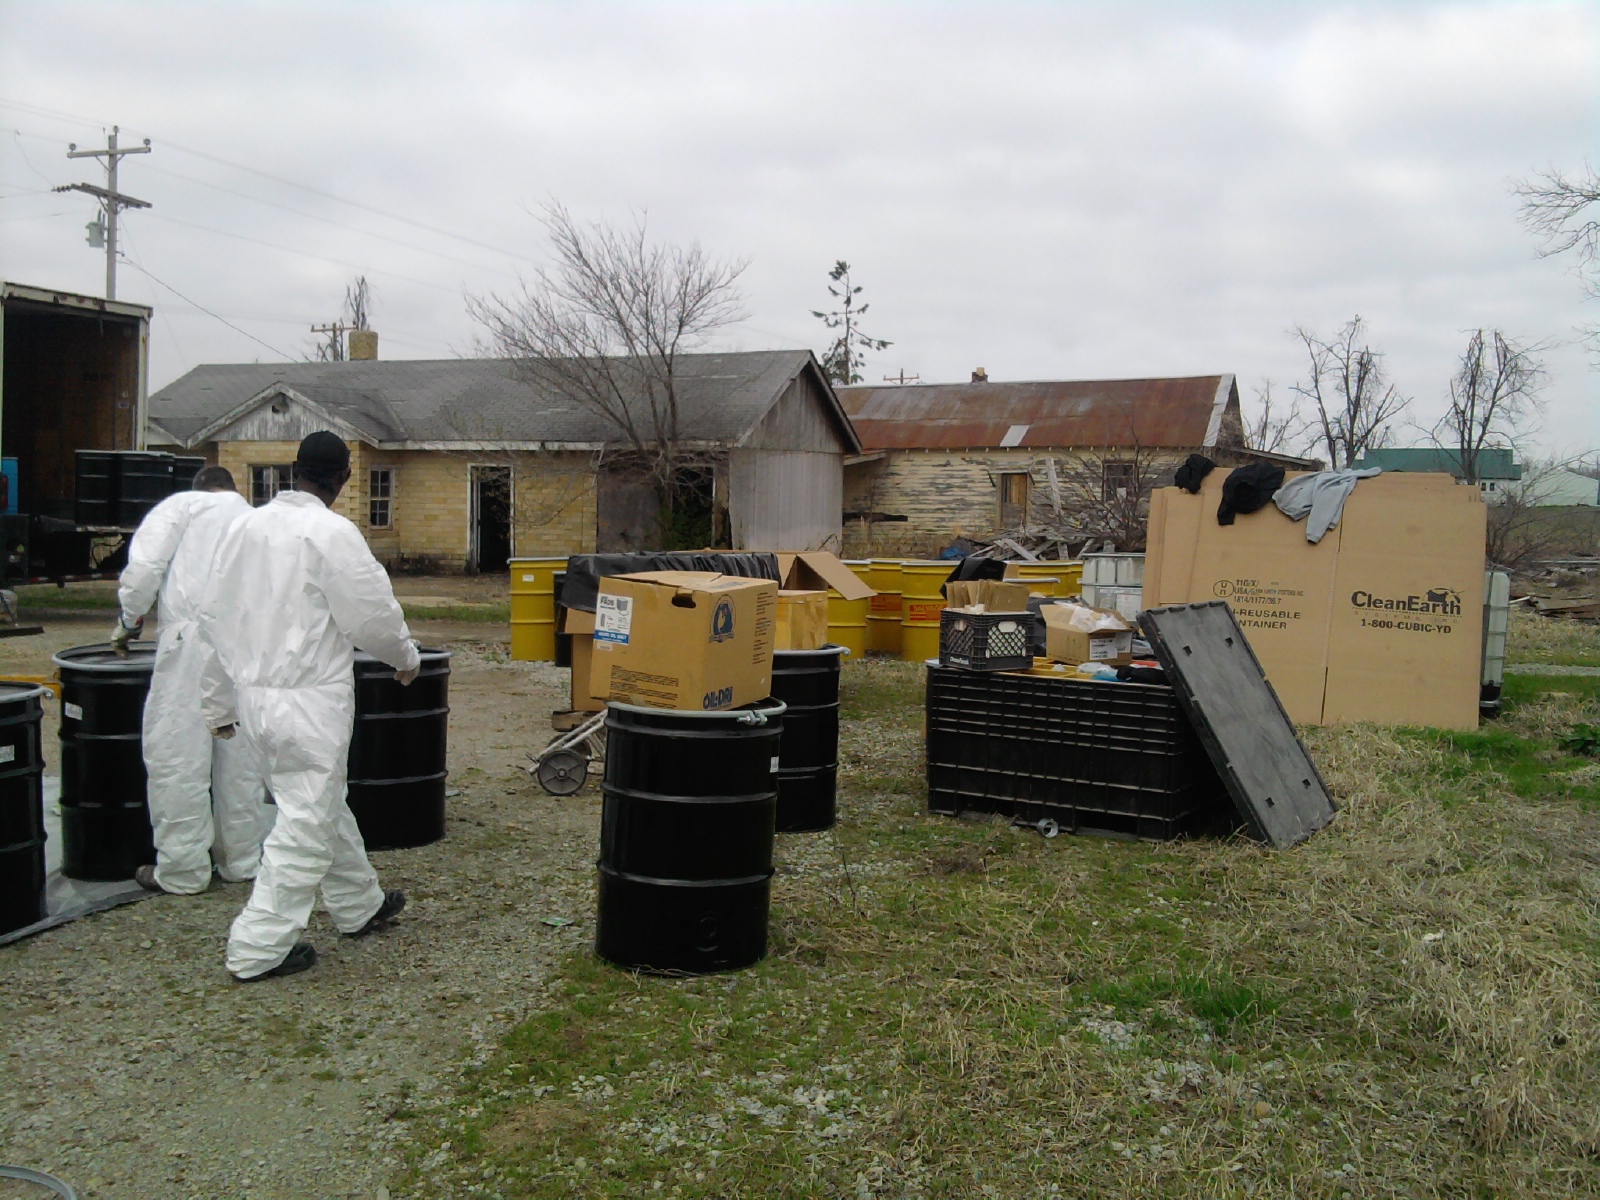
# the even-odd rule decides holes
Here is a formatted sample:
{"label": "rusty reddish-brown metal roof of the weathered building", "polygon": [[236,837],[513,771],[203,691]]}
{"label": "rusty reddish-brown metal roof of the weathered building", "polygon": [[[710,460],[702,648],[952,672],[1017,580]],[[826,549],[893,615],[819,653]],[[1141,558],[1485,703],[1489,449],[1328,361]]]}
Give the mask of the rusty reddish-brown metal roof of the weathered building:
{"label": "rusty reddish-brown metal roof of the weathered building", "polygon": [[866,451],[1133,445],[1192,450],[1214,446],[1224,434],[1224,414],[1238,414],[1232,374],[835,390]]}

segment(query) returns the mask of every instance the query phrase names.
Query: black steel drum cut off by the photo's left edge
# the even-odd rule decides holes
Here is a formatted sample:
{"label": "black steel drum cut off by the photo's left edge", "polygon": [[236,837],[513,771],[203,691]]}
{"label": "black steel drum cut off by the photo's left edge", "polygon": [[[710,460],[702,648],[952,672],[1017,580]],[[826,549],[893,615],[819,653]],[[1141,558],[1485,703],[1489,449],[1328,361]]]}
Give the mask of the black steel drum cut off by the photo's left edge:
{"label": "black steel drum cut off by the photo's left edge", "polygon": [[43,696],[0,682],[0,933],[45,918]]}

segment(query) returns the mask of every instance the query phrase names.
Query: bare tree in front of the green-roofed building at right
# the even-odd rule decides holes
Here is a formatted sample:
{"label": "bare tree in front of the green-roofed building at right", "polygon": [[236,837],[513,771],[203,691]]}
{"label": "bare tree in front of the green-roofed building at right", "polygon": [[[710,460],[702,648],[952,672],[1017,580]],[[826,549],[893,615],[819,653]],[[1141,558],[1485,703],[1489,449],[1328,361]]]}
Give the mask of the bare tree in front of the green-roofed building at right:
{"label": "bare tree in front of the green-roofed building at right", "polygon": [[1450,381],[1450,405],[1432,429],[1434,445],[1451,451],[1464,483],[1480,478],[1485,450],[1514,448],[1518,427],[1538,410],[1544,370],[1538,347],[1499,330],[1474,330]]}

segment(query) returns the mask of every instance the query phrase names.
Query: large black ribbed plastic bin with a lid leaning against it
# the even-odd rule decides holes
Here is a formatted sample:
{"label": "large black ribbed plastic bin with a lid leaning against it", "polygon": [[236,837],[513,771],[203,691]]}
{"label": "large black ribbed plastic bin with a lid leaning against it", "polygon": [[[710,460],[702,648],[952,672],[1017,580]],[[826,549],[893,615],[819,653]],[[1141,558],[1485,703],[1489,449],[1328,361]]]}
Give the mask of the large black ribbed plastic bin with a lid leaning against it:
{"label": "large black ribbed plastic bin with a lid leaning against it", "polygon": [[1237,821],[1170,686],[947,667],[928,667],[928,808],[1150,840]]}

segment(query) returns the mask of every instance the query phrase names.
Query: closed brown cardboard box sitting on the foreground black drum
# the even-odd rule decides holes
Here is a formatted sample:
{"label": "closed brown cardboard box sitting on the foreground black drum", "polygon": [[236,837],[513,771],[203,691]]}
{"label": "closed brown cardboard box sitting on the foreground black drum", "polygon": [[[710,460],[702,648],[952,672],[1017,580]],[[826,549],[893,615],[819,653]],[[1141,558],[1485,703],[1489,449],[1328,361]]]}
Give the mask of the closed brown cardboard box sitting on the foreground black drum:
{"label": "closed brown cardboard box sitting on the foreground black drum", "polygon": [[766,699],[776,613],[778,584],[770,579],[710,571],[602,579],[589,691],[656,709],[736,709]]}

